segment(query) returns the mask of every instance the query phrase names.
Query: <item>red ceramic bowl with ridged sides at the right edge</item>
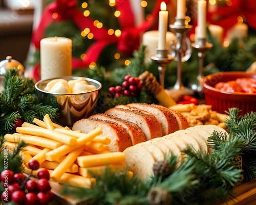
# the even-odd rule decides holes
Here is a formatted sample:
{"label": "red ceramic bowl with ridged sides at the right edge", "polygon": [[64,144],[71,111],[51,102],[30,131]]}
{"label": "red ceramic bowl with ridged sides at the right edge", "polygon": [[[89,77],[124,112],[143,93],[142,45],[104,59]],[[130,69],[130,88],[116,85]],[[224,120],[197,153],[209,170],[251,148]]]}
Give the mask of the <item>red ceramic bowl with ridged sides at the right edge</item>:
{"label": "red ceramic bowl with ridged sides at the right edge", "polygon": [[256,73],[232,71],[207,75],[202,82],[205,103],[219,113],[225,113],[229,108],[239,108],[240,114],[256,112],[256,94],[231,93],[214,88],[219,82],[234,81],[238,78],[256,79]]}

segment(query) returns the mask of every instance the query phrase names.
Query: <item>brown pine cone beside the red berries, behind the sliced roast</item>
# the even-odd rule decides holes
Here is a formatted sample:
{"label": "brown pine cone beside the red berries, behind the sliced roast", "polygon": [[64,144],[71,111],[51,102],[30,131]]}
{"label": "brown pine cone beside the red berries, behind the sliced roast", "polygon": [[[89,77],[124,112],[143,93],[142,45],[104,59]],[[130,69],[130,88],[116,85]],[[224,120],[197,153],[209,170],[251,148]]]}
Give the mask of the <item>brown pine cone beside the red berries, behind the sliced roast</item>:
{"label": "brown pine cone beside the red berries, behind the sliced roast", "polygon": [[157,82],[156,77],[148,71],[140,74],[138,78],[142,82],[143,86],[145,86],[145,88],[154,95],[163,89],[163,87]]}

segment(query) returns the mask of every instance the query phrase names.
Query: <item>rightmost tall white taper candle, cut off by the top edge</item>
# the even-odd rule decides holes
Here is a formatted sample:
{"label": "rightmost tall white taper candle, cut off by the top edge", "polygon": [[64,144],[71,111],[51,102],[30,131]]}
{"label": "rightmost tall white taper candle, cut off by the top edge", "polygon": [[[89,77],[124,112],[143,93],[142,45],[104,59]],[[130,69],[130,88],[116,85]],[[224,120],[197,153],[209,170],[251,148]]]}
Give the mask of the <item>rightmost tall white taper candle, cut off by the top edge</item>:
{"label": "rightmost tall white taper candle, cut off by the top edge", "polygon": [[198,11],[198,33],[197,38],[206,38],[206,1],[199,0],[197,2]]}

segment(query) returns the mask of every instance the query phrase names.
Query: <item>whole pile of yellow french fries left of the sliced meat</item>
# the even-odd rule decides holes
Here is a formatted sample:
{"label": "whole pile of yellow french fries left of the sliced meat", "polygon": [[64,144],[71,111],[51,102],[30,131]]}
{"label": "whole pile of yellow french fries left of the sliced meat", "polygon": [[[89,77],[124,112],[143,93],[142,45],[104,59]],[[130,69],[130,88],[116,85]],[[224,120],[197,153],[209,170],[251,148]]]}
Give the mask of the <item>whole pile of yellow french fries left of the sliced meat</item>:
{"label": "whole pile of yellow french fries left of the sliced meat", "polygon": [[22,140],[29,144],[21,153],[27,173],[31,173],[28,162],[34,159],[49,170],[52,181],[90,188],[95,183],[92,173],[100,175],[106,166],[112,171],[126,168],[124,153],[109,150],[110,139],[101,135],[100,128],[88,134],[72,131],[53,123],[48,114],[43,121],[34,118],[33,122],[24,122],[16,133],[4,136],[10,150]]}

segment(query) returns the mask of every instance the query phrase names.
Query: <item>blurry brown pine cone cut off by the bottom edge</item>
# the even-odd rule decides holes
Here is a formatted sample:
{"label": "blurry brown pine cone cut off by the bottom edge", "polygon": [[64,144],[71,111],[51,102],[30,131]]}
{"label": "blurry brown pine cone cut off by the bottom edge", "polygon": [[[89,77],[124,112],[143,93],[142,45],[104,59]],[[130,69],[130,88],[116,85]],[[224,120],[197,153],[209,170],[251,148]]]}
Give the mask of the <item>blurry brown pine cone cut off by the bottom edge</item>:
{"label": "blurry brown pine cone cut off by the bottom edge", "polygon": [[172,195],[167,190],[160,188],[152,188],[147,196],[150,205],[170,205],[172,203]]}

